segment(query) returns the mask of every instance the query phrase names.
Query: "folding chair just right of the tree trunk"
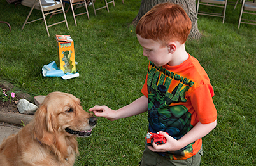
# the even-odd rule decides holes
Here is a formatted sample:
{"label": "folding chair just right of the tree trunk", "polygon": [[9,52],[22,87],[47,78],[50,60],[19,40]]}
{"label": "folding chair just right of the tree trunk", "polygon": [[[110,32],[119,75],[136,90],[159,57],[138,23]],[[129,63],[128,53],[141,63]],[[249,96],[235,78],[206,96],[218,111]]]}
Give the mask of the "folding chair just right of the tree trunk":
{"label": "folding chair just right of the tree trunk", "polygon": [[[222,10],[222,13],[211,13],[208,11],[207,12],[199,11],[199,5],[223,8],[223,10]],[[217,16],[217,17],[221,17],[222,23],[224,23],[226,8],[227,8],[227,0],[198,0],[196,16],[197,15]]]}

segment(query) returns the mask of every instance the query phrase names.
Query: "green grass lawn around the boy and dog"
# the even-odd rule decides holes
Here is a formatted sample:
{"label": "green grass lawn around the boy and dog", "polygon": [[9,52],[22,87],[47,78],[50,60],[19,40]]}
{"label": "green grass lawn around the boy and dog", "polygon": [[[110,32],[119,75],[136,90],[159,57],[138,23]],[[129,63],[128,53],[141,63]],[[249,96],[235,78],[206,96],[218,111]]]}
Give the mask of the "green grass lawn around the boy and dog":
{"label": "green grass lawn around the boy and dog", "polygon": [[[139,98],[148,60],[129,24],[140,1],[115,3],[115,7],[109,4],[110,13],[99,10],[97,17],[89,6],[90,20],[86,15],[77,16],[77,27],[69,10],[69,30],[62,23],[50,27],[48,37],[41,22],[21,30],[29,8],[0,0],[0,20],[12,28],[10,32],[0,23],[0,79],[32,96],[71,93],[81,99],[85,110],[94,105],[118,109]],[[201,165],[256,164],[256,27],[242,24],[238,29],[241,5],[233,8],[227,6],[224,24],[221,18],[199,15],[202,37],[186,44],[188,53],[199,60],[211,79],[218,111],[217,127],[203,138]],[[32,14],[40,16],[40,12]],[[62,15],[51,20],[59,18]],[[80,77],[43,77],[43,65],[58,61],[55,34],[73,38]],[[92,136],[78,139],[80,156],[75,165],[138,165],[147,125],[146,113],[114,122],[98,118]]]}

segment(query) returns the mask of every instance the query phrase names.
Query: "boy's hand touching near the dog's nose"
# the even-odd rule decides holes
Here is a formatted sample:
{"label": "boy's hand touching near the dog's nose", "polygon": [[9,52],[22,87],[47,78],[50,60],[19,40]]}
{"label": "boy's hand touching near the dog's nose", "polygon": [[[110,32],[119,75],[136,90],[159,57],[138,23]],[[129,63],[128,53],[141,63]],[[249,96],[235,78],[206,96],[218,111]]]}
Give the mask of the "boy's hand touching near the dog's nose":
{"label": "boy's hand touching near the dog's nose", "polygon": [[93,112],[96,117],[104,117],[108,120],[114,121],[116,112],[108,108],[108,106],[99,106],[96,105],[89,109],[89,112]]}

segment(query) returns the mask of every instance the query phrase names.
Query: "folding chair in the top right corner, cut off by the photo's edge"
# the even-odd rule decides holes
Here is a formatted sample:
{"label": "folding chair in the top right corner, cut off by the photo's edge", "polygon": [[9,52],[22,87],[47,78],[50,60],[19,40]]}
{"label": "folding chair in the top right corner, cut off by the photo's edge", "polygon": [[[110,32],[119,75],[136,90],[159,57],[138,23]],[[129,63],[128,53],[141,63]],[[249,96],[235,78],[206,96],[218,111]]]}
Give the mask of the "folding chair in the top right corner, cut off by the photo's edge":
{"label": "folding chair in the top right corner, cut off by the photo's edge", "polygon": [[256,15],[255,11],[256,11],[255,0],[253,2],[243,0],[241,12],[240,12],[240,16],[239,16],[238,28],[240,28],[241,23],[256,25],[256,23],[253,23],[253,22],[256,22],[256,19],[255,20],[242,19],[243,13],[250,14],[250,15]]}

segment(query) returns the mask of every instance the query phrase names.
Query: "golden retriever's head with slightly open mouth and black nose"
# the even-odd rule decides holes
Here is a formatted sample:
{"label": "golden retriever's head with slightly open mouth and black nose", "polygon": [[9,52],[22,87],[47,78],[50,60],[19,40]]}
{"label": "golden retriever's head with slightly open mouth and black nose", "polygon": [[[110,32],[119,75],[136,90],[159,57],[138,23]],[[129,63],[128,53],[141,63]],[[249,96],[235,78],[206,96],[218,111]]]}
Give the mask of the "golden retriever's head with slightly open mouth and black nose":
{"label": "golden retriever's head with slightly open mouth and black nose", "polygon": [[36,139],[53,144],[57,137],[89,137],[96,124],[97,118],[83,110],[80,99],[53,92],[36,111],[32,130]]}

